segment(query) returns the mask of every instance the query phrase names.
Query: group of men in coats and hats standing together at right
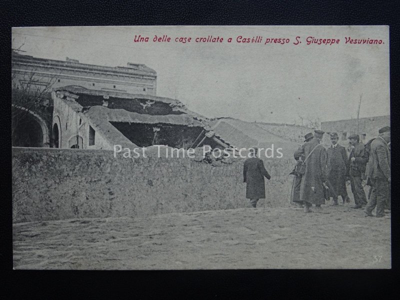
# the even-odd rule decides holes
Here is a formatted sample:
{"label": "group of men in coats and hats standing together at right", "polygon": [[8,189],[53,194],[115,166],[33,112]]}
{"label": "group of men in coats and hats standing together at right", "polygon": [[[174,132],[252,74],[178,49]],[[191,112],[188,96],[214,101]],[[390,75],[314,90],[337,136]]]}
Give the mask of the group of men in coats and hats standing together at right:
{"label": "group of men in coats and hats standing together at right", "polygon": [[[343,204],[350,202],[346,190],[346,181],[350,181],[354,196],[353,208],[364,208],[366,216],[385,216],[390,211],[390,127],[378,130],[377,138],[360,142],[359,135],[348,137],[350,153],[338,144],[336,132],[330,133],[331,145],[325,149],[320,144],[323,131],[307,133],[304,144],[294,152],[297,163],[294,174],[291,201],[304,206],[304,212],[321,212],[325,199],[333,199],[332,205],[338,205],[338,196]],[[362,180],[370,185],[369,202],[365,196]],[[314,208],[311,209],[312,204]]]}

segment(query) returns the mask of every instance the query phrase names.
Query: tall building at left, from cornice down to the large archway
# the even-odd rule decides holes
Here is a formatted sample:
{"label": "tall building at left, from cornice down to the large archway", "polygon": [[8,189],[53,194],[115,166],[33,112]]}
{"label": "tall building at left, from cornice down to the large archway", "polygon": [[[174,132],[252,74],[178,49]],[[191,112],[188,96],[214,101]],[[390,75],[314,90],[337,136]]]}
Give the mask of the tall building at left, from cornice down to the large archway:
{"label": "tall building at left, from cornice down to the large archway", "polygon": [[[13,119],[14,124],[18,123],[17,128],[13,130],[15,132],[13,135],[20,136],[12,137],[12,145],[49,147],[54,146],[51,143],[52,140],[58,139],[51,136],[53,121],[51,92],[53,90],[70,85],[89,90],[155,96],[157,74],[153,69],[140,63],[128,62],[126,66],[110,67],[80,63],[68,57],[65,60],[54,60],[12,51],[11,79],[12,109],[27,110],[24,106],[29,107],[29,114],[24,115],[24,118],[29,118],[29,121]],[[40,91],[43,90],[45,92],[41,93]],[[40,100],[32,106],[29,101],[21,101],[18,94],[32,94],[33,98],[39,94]],[[38,123],[37,126],[34,125],[35,122]],[[67,142],[69,145],[69,141]],[[74,144],[79,144],[79,142]]]}

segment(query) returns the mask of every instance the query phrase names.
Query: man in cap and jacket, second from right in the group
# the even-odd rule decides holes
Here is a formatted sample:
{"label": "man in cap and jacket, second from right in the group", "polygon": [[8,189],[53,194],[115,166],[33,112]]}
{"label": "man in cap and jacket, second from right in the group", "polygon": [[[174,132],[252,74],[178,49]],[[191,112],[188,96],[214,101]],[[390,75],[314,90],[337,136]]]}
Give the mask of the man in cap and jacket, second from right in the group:
{"label": "man in cap and jacket, second from right in the group", "polygon": [[366,167],[364,144],[359,141],[358,134],[350,135],[348,142],[351,145],[351,150],[347,162],[347,175],[350,177],[351,192],[353,193],[355,202],[355,206],[352,208],[362,208],[367,203],[365,191],[362,187],[362,174],[365,173]]}

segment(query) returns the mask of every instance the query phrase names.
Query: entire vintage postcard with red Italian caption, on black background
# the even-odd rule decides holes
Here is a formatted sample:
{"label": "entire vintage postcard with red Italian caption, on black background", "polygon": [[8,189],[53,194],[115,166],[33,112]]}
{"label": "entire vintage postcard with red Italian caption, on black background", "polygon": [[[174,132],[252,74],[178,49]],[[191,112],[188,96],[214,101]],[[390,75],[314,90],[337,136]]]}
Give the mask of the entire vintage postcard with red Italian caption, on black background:
{"label": "entire vintage postcard with red Italian caption, on black background", "polygon": [[388,26],[14,27],[15,269],[391,268]]}

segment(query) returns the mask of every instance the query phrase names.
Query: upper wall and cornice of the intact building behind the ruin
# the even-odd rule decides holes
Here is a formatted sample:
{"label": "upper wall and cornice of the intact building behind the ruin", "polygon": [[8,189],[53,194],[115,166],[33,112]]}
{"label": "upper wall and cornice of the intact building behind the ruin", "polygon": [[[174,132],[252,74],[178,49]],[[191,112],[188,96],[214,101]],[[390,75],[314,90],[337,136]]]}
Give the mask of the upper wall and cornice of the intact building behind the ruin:
{"label": "upper wall and cornice of the intact building behind the ruin", "polygon": [[12,52],[11,65],[13,78],[20,86],[27,84],[29,75],[34,74],[34,85],[44,86],[53,81],[52,89],[78,85],[96,90],[156,94],[156,72],[140,63],[110,67],[80,63],[68,57],[54,60]]}

